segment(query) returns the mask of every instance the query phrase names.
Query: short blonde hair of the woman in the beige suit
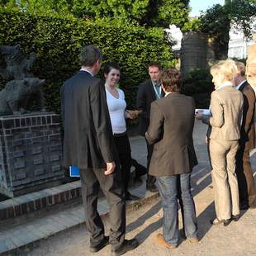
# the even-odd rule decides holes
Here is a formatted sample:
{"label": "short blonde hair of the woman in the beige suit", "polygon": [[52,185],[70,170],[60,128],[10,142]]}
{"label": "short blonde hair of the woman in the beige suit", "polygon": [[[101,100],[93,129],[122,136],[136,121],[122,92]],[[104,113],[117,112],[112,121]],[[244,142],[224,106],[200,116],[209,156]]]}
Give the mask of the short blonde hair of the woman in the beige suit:
{"label": "short blonde hair of the woman in the beige suit", "polygon": [[239,70],[233,59],[220,60],[211,67],[212,76],[222,76],[224,81],[232,81]]}

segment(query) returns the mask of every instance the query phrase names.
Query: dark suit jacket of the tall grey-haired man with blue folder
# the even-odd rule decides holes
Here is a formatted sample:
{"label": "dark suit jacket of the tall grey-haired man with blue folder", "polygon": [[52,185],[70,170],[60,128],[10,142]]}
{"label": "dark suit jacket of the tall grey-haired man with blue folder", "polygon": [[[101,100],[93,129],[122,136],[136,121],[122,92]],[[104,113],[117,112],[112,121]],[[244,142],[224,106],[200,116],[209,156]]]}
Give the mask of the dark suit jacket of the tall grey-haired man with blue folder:
{"label": "dark suit jacket of the tall grey-haired man with blue folder", "polygon": [[79,71],[61,88],[64,167],[104,168],[112,162],[113,138],[104,84]]}

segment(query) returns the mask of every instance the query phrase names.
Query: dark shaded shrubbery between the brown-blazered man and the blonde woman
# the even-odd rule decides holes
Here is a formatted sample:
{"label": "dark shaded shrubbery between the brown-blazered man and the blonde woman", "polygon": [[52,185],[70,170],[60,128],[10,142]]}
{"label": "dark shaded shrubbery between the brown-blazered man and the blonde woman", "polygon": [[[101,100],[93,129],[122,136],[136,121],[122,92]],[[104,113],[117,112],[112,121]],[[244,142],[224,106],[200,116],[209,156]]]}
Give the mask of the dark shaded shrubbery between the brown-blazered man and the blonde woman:
{"label": "dark shaded shrubbery between the brown-blazered man and the blonde woman", "polygon": [[195,69],[183,78],[182,92],[195,99],[197,108],[208,108],[214,85],[209,69]]}

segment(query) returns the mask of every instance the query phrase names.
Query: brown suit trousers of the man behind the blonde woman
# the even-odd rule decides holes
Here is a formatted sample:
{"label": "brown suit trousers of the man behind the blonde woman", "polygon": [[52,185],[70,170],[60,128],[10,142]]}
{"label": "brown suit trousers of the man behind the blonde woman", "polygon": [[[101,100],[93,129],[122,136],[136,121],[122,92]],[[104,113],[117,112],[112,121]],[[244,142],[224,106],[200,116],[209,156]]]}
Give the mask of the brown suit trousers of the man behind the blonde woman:
{"label": "brown suit trousers of the man behind the blonde woman", "polygon": [[240,145],[235,159],[235,172],[238,179],[240,206],[254,206],[256,192],[254,175],[249,162],[249,143],[243,143]]}

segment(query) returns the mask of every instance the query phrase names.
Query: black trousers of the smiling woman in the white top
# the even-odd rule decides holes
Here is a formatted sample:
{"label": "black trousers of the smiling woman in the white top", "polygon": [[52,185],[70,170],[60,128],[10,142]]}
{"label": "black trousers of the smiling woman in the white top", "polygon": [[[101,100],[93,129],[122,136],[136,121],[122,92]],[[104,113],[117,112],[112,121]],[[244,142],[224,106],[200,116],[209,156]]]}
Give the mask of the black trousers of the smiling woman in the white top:
{"label": "black trousers of the smiling woman in the white top", "polygon": [[119,164],[121,168],[121,178],[124,184],[125,193],[129,195],[128,186],[130,182],[130,167],[131,167],[131,154],[130,154],[130,141],[126,134],[114,135],[116,149],[118,151]]}

